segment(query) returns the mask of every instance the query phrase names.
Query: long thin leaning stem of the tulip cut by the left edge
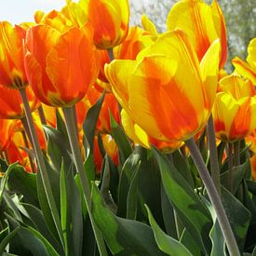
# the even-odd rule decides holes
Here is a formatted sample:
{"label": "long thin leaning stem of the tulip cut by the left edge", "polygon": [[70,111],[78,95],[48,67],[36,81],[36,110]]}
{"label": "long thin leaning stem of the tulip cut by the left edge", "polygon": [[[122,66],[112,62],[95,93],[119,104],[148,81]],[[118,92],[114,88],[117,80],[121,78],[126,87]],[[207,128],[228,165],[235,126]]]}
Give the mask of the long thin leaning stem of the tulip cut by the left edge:
{"label": "long thin leaning stem of the tulip cut by the left edge", "polygon": [[32,117],[31,111],[30,111],[27,94],[26,94],[26,91],[24,88],[20,88],[20,96],[23,101],[23,107],[24,107],[24,111],[26,114],[26,118],[27,118],[27,125],[29,127],[30,134],[32,137],[34,153],[35,153],[36,160],[37,160],[37,167],[38,167],[37,171],[40,172],[40,174],[42,176],[42,182],[44,185],[45,193],[47,195],[47,202],[48,202],[51,214],[52,214],[52,219],[55,223],[57,232],[61,238],[61,245],[64,246],[64,238],[63,238],[63,234],[61,232],[60,215],[59,215],[59,212],[58,212],[58,209],[56,206],[54,195],[52,193],[51,185],[50,185],[48,174],[47,174],[47,168],[46,168],[46,164],[45,164],[45,160],[44,160],[44,155],[42,153],[42,150],[40,148],[40,144],[39,144],[39,141],[38,141],[38,138],[36,135],[33,117]]}

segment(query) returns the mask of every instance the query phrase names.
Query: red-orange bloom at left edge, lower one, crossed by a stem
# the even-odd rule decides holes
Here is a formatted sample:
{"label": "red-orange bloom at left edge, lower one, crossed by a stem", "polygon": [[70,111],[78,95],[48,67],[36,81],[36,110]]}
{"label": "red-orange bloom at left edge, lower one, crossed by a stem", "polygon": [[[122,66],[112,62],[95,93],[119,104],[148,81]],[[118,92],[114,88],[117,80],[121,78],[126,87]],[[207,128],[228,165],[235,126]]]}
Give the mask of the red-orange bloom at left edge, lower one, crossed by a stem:
{"label": "red-orange bloom at left edge, lower one, crossed by a stem", "polygon": [[[30,87],[26,88],[26,94],[31,111],[39,106],[39,101],[34,96]],[[18,90],[6,88],[0,85],[0,119],[21,119],[25,116],[23,103]]]}

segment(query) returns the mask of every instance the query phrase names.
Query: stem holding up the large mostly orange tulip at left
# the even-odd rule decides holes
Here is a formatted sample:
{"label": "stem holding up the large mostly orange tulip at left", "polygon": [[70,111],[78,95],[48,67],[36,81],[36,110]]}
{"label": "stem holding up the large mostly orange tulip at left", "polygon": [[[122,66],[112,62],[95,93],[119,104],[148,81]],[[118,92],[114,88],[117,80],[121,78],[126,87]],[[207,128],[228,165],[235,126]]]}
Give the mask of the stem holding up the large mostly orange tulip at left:
{"label": "stem holding up the large mostly orange tulip at left", "polygon": [[64,107],[62,108],[62,111],[65,117],[65,124],[66,124],[68,137],[69,137],[69,141],[72,149],[72,154],[74,156],[74,165],[75,165],[76,171],[79,173],[84,198],[88,208],[88,215],[89,215],[94,236],[98,245],[98,249],[101,255],[108,255],[107,250],[105,248],[103,236],[101,235],[101,231],[97,227],[96,223],[94,222],[91,214],[90,186],[88,182],[88,177],[84,169],[82,156],[79,148],[79,143],[76,136],[75,125],[74,125],[74,107]]}

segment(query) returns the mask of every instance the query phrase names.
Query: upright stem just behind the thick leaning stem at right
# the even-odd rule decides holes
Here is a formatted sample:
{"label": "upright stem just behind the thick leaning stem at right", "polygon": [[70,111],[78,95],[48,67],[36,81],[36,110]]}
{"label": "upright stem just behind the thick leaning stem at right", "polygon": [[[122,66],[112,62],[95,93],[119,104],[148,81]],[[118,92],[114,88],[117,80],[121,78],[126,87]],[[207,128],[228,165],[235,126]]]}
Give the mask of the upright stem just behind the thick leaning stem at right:
{"label": "upright stem just behind the thick leaning stem at right", "polygon": [[215,130],[214,130],[212,115],[209,116],[209,121],[208,121],[208,140],[209,140],[210,174],[219,195],[221,195],[221,179],[220,179],[219,161],[218,161],[216,137],[215,137]]}

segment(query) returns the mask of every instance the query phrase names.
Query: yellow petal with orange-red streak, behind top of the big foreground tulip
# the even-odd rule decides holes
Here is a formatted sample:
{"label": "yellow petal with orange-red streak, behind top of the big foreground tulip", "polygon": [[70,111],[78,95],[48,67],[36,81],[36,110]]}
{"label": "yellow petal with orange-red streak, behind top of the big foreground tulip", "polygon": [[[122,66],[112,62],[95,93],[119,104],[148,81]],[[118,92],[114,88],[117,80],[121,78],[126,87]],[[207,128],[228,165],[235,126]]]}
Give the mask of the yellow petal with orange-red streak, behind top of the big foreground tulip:
{"label": "yellow petal with orange-red streak, behind top of the big foreground tulip", "polygon": [[168,13],[168,30],[182,29],[190,38],[201,60],[211,42],[218,38],[211,8],[199,0],[185,0],[175,4]]}

